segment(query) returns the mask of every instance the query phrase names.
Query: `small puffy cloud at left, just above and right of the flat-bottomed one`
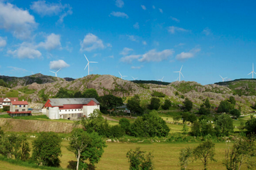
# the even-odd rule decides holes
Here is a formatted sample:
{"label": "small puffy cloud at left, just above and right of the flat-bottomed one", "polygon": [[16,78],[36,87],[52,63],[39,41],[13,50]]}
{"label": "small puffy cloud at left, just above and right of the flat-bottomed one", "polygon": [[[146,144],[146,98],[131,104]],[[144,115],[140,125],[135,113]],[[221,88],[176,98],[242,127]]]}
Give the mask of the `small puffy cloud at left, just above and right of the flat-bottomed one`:
{"label": "small puffy cloud at left, just above and right of the flat-bottomed one", "polygon": [[39,43],[38,47],[43,47],[46,50],[54,50],[56,48],[61,48],[60,35],[52,33],[51,35],[47,36],[45,42]]}

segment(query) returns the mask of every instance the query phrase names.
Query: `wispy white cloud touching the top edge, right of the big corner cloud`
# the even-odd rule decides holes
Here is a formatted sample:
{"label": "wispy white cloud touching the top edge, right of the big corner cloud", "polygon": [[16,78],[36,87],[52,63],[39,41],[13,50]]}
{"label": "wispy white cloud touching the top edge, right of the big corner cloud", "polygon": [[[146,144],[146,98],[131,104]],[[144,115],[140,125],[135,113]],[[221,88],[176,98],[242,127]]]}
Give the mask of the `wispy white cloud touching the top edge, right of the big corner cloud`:
{"label": "wispy white cloud touching the top edge, right of the big corner cloud", "polygon": [[67,15],[72,15],[72,8],[69,4],[61,4],[61,3],[46,3],[45,1],[36,1],[33,2],[30,6],[31,10],[35,11],[42,17],[44,16],[52,16],[59,15],[60,18],[58,20],[59,23],[63,22],[63,18]]}

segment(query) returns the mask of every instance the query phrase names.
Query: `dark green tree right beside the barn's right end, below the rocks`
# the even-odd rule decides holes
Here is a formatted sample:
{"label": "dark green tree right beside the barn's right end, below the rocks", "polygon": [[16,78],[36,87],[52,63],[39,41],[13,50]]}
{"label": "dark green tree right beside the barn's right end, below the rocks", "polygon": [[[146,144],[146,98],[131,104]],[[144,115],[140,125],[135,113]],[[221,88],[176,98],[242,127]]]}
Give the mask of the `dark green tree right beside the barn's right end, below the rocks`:
{"label": "dark green tree right beside the barn's right end, below the rocks", "polygon": [[100,110],[113,110],[118,106],[124,105],[121,97],[116,97],[116,96],[113,96],[112,94],[100,96],[99,102],[100,102]]}

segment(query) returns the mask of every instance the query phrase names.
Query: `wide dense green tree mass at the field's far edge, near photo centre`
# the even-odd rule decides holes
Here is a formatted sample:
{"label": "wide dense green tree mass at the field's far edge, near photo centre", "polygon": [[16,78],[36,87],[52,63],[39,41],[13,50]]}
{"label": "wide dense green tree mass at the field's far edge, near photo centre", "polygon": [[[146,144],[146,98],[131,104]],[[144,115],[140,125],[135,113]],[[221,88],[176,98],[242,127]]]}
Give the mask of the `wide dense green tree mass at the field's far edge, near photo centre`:
{"label": "wide dense green tree mass at the field's far edge, near photo centre", "polygon": [[142,117],[136,118],[131,125],[131,132],[133,136],[161,137],[167,136],[170,129],[163,118],[157,115],[157,111],[153,110],[150,113],[144,114]]}

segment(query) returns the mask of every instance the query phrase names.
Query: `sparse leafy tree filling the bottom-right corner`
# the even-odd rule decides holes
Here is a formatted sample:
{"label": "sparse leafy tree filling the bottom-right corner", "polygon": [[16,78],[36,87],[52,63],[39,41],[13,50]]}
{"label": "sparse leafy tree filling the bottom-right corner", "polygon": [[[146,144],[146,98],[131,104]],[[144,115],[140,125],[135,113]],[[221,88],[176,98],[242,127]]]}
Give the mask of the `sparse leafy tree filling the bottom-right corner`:
{"label": "sparse leafy tree filling the bottom-right corner", "polygon": [[233,146],[225,150],[223,165],[228,170],[241,169],[246,164],[248,169],[256,167],[255,164],[256,146],[254,139],[236,139]]}

